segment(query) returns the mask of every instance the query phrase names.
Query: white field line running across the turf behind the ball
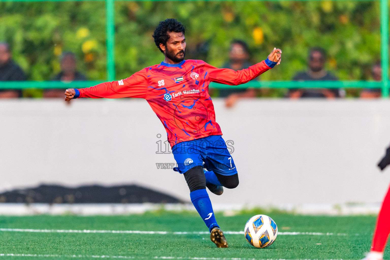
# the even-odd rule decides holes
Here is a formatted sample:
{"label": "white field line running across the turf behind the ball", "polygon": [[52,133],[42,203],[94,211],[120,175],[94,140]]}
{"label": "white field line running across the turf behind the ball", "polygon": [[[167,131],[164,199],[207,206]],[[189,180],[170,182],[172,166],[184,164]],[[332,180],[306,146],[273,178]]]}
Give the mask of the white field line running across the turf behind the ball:
{"label": "white field line running across the turf behind the ball", "polygon": [[[35,233],[124,233],[124,234],[160,234],[160,235],[204,235],[210,232],[169,232],[169,231],[139,231],[139,230],[65,230],[65,229],[21,229],[0,228],[3,232],[35,232]],[[243,231],[225,231],[229,235],[243,235]],[[319,233],[319,232],[278,232],[278,235],[347,235],[344,233]]]}

